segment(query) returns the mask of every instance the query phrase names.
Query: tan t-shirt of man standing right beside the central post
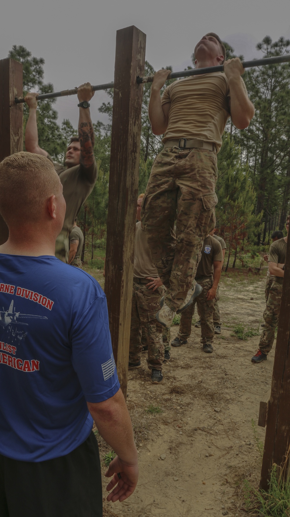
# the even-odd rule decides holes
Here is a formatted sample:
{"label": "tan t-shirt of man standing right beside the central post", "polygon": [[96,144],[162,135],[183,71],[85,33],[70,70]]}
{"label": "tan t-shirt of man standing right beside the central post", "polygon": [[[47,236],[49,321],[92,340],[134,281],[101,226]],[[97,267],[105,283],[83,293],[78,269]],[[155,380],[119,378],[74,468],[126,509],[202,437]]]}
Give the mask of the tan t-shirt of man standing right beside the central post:
{"label": "tan t-shirt of man standing right beside the central post", "polygon": [[151,253],[148,248],[146,234],[141,227],[141,221],[136,223],[134,277],[158,277],[157,269],[152,261]]}

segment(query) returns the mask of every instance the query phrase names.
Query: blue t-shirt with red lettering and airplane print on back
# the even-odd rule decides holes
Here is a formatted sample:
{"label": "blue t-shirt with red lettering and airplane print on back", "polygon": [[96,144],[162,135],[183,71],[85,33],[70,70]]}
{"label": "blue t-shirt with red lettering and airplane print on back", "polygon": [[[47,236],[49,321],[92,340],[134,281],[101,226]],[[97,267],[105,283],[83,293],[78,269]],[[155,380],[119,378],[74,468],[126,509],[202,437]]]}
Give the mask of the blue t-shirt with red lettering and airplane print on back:
{"label": "blue t-shirt with red lettering and airplane print on back", "polygon": [[93,426],[86,401],[118,391],[98,282],[54,256],[0,254],[0,453],[68,454]]}

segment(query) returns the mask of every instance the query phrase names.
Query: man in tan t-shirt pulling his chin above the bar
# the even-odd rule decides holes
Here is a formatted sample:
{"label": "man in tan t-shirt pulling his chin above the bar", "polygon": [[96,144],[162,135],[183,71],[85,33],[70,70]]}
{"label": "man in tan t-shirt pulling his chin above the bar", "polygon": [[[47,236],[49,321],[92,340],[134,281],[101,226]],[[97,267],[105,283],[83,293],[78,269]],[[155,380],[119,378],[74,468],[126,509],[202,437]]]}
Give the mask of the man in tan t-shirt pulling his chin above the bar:
{"label": "man in tan t-shirt pulling his chin above the bar", "polygon": [[[194,56],[196,68],[220,65],[225,48],[219,36],[208,33],[197,43]],[[161,99],[169,73],[159,70],[151,86],[149,119],[155,134],[164,133],[164,149],[152,166],[142,207],[151,256],[167,288],[157,314],[167,327],[175,312],[201,292],[192,282],[203,240],[215,226],[217,152],[227,118],[241,129],[254,115],[238,58],[224,63],[224,73],[173,82]]]}

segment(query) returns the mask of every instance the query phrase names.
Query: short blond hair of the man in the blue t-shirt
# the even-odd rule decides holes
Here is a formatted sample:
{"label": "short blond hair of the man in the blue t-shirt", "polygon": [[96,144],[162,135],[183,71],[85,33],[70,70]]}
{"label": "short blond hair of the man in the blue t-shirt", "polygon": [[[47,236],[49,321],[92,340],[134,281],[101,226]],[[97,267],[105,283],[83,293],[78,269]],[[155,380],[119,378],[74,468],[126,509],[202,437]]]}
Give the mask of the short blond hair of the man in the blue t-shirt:
{"label": "short blond hair of the man in the blue t-shirt", "polygon": [[45,201],[59,192],[59,177],[44,156],[21,151],[0,163],[0,212],[8,226],[39,221]]}

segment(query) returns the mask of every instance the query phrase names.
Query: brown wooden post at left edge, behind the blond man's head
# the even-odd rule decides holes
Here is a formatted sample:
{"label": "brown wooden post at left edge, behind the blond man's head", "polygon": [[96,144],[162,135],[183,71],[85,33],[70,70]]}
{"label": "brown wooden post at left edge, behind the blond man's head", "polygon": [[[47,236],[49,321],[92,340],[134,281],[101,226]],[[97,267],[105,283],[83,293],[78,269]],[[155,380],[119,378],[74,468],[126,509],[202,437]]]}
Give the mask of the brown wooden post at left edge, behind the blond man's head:
{"label": "brown wooden post at left edge, behind the blond man's head", "polygon": [[[23,105],[14,102],[22,96],[22,64],[14,59],[0,60],[0,161],[23,150]],[[8,228],[0,215],[0,245],[8,239]]]}

